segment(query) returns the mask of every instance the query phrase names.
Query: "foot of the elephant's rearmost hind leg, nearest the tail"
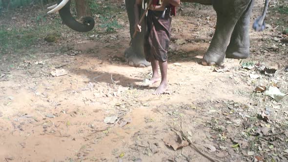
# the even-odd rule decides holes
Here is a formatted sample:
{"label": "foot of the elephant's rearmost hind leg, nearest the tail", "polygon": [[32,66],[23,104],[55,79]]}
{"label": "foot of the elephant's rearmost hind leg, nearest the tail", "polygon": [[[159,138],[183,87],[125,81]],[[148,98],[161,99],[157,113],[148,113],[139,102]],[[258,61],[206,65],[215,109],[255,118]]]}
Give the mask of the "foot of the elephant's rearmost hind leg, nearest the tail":
{"label": "foot of the elephant's rearmost hind leg, nearest the tail", "polygon": [[250,56],[249,48],[228,48],[226,58],[229,59],[247,59]]}

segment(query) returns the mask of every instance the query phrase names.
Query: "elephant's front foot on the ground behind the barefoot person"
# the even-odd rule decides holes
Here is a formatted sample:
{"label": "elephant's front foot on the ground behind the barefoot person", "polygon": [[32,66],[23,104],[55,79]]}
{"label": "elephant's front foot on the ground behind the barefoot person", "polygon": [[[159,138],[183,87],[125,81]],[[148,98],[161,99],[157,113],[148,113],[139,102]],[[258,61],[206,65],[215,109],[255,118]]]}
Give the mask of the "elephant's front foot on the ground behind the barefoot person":
{"label": "elephant's front foot on the ground behind the barefoot person", "polygon": [[127,48],[124,54],[125,54],[125,59],[130,66],[147,67],[151,65],[150,62],[145,60],[144,55],[134,52],[131,47]]}

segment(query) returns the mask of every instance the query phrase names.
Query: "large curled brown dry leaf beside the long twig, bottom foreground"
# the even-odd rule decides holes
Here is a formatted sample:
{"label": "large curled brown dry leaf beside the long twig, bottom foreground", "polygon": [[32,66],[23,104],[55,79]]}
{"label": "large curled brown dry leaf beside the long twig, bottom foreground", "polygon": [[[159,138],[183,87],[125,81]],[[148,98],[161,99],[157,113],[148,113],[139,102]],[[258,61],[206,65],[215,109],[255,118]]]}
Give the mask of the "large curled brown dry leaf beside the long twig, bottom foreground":
{"label": "large curled brown dry leaf beside the long twig, bottom foreground", "polygon": [[181,139],[176,135],[168,135],[163,139],[163,142],[169,146],[172,147],[175,151],[179,148],[185,147],[189,145],[189,142],[182,141]]}

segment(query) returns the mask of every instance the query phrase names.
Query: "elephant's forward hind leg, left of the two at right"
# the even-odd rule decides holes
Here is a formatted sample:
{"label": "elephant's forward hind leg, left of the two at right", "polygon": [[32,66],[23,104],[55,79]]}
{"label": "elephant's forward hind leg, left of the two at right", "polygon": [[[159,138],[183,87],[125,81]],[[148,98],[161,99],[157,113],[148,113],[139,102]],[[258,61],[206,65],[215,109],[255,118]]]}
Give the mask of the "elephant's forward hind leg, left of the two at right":
{"label": "elephant's forward hind leg, left of the two at right", "polygon": [[225,52],[233,29],[247,9],[251,0],[215,0],[213,8],[217,13],[217,23],[210,46],[202,59],[203,65],[220,65],[225,60]]}

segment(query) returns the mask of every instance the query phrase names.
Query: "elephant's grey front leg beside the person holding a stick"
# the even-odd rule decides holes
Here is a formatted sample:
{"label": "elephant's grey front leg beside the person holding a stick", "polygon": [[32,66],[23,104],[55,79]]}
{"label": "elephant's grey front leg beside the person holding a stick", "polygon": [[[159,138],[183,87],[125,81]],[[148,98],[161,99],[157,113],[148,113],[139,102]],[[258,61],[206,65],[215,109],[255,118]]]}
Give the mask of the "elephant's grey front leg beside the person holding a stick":
{"label": "elephant's grey front leg beside the person holding a stick", "polygon": [[[136,0],[125,0],[127,15],[130,24],[130,37],[132,38],[135,26],[134,17],[134,4]],[[142,31],[144,31],[144,25],[142,25]],[[144,57],[144,32],[137,33],[136,37],[132,41],[132,45],[128,47],[125,52],[125,58],[130,66],[134,67],[146,67],[150,66],[150,62],[147,62]]]}

